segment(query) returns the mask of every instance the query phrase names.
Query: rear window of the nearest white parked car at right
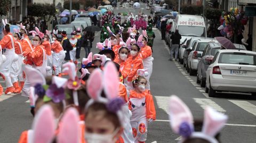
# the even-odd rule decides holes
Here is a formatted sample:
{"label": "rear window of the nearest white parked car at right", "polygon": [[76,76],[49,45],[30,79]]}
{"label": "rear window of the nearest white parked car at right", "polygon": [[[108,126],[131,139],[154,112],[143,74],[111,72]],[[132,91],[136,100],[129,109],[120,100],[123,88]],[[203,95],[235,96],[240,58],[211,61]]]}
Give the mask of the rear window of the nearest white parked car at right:
{"label": "rear window of the nearest white parked car at right", "polygon": [[219,57],[219,63],[256,65],[256,55],[222,53]]}

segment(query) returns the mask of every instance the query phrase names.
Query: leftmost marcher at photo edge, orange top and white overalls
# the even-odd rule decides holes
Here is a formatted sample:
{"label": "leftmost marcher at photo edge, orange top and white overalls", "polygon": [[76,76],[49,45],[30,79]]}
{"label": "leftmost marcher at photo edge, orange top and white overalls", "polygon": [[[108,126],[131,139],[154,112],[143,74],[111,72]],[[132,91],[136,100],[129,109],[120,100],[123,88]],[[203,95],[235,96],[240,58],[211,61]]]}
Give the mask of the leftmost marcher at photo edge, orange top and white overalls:
{"label": "leftmost marcher at photo edge, orange top and white overalls", "polygon": [[14,47],[15,40],[14,40],[14,37],[12,36],[12,33],[10,32],[10,24],[7,23],[6,19],[2,20],[2,22],[4,24],[4,28],[3,28],[4,37],[0,41],[0,48],[1,48],[1,52],[5,48],[5,52],[3,53],[3,55],[6,57],[6,60],[2,63],[0,72],[5,77],[5,85],[6,85],[5,94],[12,94],[15,89],[12,85],[10,70],[11,70],[11,65],[13,63],[14,56],[15,56],[15,47]]}

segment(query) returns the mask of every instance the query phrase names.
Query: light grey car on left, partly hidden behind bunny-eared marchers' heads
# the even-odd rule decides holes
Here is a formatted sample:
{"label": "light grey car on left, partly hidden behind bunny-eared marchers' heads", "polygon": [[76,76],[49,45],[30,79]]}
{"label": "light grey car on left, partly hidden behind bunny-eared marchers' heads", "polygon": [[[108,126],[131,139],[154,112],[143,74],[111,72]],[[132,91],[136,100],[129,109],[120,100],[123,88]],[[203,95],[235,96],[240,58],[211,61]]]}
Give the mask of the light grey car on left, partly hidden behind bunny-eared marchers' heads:
{"label": "light grey car on left, partly hidden behind bunny-eared marchers' heads", "polygon": [[65,30],[67,32],[68,38],[71,38],[71,32],[76,30],[75,27],[72,24],[57,25],[57,26],[55,26],[54,29],[58,29],[58,35],[57,35],[58,41],[61,41],[61,39],[62,39],[62,36],[61,36],[61,31],[62,30]]}

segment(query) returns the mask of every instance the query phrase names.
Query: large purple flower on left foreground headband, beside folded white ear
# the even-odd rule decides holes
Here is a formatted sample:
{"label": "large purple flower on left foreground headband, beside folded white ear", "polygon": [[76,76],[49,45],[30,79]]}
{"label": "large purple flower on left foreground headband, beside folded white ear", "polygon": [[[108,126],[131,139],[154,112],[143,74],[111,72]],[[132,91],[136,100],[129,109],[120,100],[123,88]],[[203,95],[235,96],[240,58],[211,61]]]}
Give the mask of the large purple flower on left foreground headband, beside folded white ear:
{"label": "large purple flower on left foreground headband, beside folded white ear", "polygon": [[59,103],[65,99],[64,88],[58,88],[57,85],[52,84],[46,90],[46,96],[50,97],[54,103]]}

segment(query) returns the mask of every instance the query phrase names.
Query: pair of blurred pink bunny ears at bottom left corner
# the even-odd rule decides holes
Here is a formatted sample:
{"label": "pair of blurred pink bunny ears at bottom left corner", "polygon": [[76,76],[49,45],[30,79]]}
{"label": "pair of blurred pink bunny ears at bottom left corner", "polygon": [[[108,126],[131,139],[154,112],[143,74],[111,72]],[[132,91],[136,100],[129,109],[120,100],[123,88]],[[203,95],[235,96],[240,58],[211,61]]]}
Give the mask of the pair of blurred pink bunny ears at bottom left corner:
{"label": "pair of blurred pink bunny ears at bottom left corner", "polygon": [[[35,116],[28,140],[30,142],[52,142],[55,138],[54,112],[50,105],[43,105]],[[61,119],[57,142],[79,142],[79,115],[74,107],[68,108]]]}

